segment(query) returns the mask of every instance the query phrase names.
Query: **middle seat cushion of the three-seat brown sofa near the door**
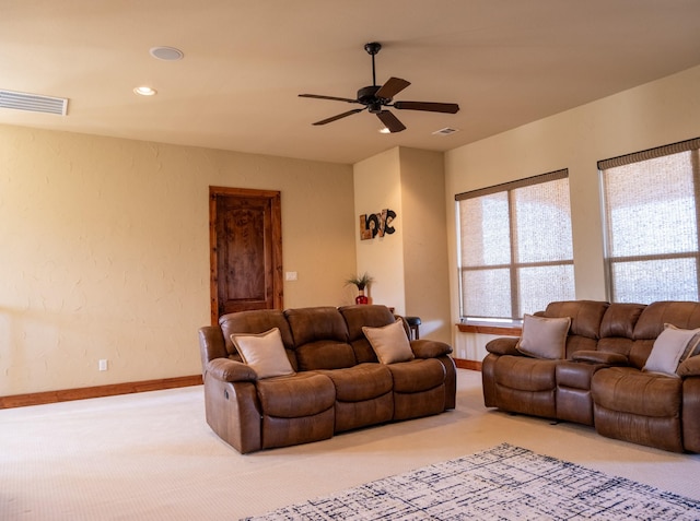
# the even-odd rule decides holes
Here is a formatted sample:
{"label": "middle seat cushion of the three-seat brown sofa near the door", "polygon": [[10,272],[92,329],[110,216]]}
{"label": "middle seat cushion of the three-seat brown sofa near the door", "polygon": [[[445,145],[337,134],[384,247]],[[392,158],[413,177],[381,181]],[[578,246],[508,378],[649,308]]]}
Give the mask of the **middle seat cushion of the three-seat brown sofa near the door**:
{"label": "middle seat cushion of the three-seat brown sofa near the door", "polygon": [[360,364],[322,372],[332,380],[339,402],[373,400],[392,391],[392,372],[380,364]]}

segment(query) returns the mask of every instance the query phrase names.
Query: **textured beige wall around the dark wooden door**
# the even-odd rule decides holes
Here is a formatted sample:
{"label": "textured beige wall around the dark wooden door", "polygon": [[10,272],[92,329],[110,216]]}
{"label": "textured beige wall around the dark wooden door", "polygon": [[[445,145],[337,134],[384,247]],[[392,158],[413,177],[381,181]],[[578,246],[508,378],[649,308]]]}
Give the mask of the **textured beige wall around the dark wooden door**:
{"label": "textured beige wall around the dark wooden door", "polygon": [[281,191],[285,307],[349,304],[351,166],[0,127],[0,395],[200,371],[210,185]]}

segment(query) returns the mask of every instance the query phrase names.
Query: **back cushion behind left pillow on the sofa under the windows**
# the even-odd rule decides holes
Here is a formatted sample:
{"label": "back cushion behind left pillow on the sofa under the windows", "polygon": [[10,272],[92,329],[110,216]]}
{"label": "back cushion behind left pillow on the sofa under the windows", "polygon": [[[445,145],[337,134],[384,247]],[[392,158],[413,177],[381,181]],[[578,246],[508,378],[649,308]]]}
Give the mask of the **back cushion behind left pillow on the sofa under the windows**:
{"label": "back cushion behind left pillow on the sofa under the windows", "polygon": [[567,339],[567,358],[578,351],[597,348],[600,338],[600,321],[609,304],[599,300],[563,300],[550,303],[542,313],[549,318],[570,317],[571,327]]}

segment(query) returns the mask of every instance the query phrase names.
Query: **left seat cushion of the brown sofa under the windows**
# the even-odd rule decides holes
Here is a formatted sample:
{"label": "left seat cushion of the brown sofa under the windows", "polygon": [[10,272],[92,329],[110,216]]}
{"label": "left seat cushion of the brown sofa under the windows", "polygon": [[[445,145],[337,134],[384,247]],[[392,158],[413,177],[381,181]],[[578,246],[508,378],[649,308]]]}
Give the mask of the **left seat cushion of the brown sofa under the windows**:
{"label": "left seat cushion of the brown sofa under the windows", "polygon": [[558,363],[526,356],[501,356],[495,364],[495,383],[521,391],[549,391],[557,387],[555,374]]}

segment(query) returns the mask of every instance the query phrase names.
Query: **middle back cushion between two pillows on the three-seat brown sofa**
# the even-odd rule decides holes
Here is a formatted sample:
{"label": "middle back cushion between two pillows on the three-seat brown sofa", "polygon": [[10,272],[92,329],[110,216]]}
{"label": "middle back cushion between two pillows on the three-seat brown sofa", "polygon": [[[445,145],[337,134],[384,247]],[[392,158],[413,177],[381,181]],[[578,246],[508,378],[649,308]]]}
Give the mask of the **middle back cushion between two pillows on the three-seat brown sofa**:
{"label": "middle back cushion between two pillows on the three-seat brown sofa", "polygon": [[348,327],[330,306],[284,311],[294,339],[299,370],[341,369],[357,364],[348,342]]}

